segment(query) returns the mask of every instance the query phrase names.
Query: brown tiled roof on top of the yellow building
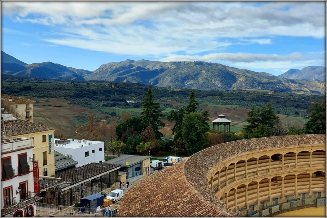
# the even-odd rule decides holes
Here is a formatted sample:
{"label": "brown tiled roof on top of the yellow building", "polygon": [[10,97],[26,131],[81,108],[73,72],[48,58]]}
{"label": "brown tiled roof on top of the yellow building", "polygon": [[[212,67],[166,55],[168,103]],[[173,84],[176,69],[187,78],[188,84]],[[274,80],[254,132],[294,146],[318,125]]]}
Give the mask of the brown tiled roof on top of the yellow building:
{"label": "brown tiled roof on top of the yellow building", "polygon": [[4,133],[5,136],[18,136],[48,130],[54,130],[54,128],[20,119],[1,121],[1,135]]}

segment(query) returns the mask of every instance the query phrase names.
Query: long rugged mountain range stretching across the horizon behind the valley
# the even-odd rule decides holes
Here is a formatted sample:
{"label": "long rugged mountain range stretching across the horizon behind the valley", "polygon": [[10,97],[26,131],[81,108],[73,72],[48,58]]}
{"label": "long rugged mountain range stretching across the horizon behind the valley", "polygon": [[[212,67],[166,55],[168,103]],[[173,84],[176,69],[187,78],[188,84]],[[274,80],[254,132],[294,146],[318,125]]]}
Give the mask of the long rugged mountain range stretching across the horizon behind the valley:
{"label": "long rugged mountain range stretching across the horizon behind the valley", "polygon": [[[312,67],[312,69],[315,68]],[[322,71],[316,69],[315,72]],[[160,87],[200,90],[263,89],[325,94],[325,83],[316,78],[312,81],[299,78],[288,79],[284,78],[288,77],[288,74],[277,77],[265,72],[259,73],[203,61],[159,62],[128,59],[121,62],[109,62],[95,71],[88,71],[52,62],[28,65],[2,51],[1,73],[59,80],[138,82]],[[294,74],[297,72],[292,75]]]}

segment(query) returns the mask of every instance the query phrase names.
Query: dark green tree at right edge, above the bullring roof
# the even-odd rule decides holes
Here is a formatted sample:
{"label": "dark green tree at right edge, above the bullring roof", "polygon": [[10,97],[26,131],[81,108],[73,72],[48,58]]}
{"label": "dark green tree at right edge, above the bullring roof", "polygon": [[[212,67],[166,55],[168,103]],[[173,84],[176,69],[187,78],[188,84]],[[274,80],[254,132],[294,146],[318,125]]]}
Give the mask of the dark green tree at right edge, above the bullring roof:
{"label": "dark green tree at right edge, above the bullring roof", "polygon": [[304,124],[307,134],[326,133],[326,99],[322,103],[312,103],[313,109],[307,109],[311,114],[306,119],[309,119]]}

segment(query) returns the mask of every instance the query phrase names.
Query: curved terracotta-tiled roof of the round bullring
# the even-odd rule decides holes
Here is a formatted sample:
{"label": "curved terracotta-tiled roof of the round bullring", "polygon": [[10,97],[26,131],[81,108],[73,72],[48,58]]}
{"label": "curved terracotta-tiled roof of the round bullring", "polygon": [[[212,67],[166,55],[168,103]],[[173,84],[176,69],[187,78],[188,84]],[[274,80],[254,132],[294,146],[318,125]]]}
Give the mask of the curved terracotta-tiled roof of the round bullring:
{"label": "curved terracotta-tiled roof of the round bullring", "polygon": [[146,177],[122,198],[120,217],[237,216],[206,185],[206,175],[235,154],[294,145],[326,144],[326,134],[243,139],[212,146]]}

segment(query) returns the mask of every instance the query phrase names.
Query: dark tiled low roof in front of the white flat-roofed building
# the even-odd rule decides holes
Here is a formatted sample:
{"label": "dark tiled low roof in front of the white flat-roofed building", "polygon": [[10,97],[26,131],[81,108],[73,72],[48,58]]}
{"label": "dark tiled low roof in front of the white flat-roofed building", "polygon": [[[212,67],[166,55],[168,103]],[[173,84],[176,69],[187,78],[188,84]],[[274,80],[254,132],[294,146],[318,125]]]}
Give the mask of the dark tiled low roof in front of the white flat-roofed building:
{"label": "dark tiled low roof in front of the white flat-roofed building", "polygon": [[80,167],[66,170],[64,172],[55,174],[54,177],[66,181],[67,184],[76,184],[83,182],[99,174],[113,171],[115,168],[120,167],[119,164],[102,164],[102,163],[89,163]]}

